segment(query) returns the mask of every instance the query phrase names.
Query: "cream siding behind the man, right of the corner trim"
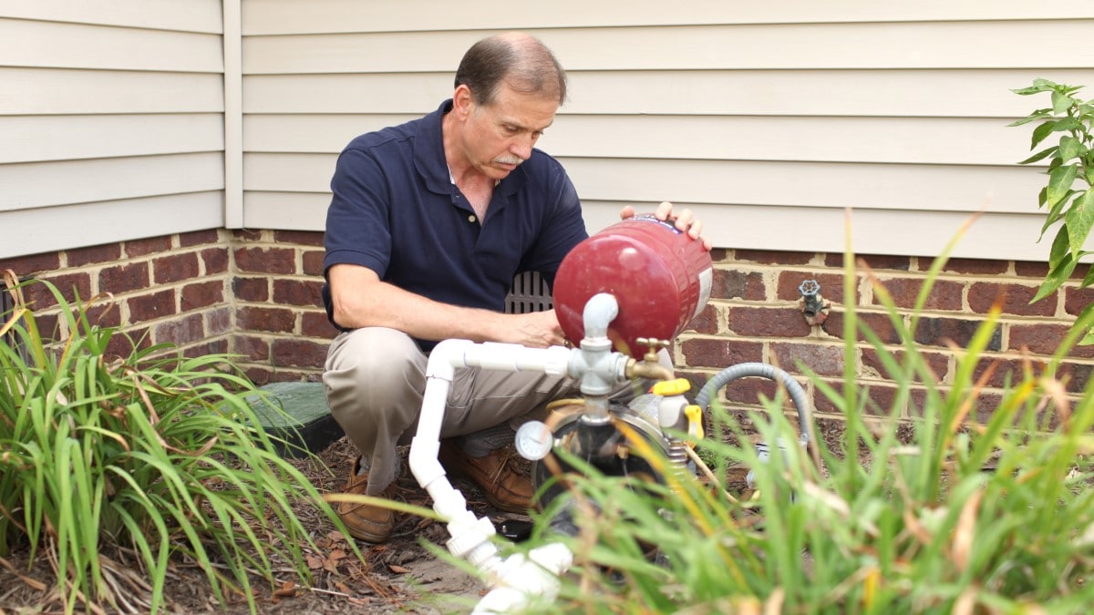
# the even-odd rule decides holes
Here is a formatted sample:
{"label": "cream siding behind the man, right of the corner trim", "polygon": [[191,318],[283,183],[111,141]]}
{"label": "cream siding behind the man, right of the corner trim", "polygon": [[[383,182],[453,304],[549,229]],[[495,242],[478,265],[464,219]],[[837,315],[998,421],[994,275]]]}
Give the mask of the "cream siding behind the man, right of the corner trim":
{"label": "cream siding behind the man, right of the corner trim", "polygon": [[[595,231],[628,204],[691,207],[717,246],[1044,259],[1019,166],[1044,77],[1094,85],[1094,7],[563,1],[549,12],[424,1],[243,4],[244,220],[322,230],[353,136],[429,113],[461,54],[525,30],[567,67],[539,147]],[[549,13],[549,14],[546,14]],[[1087,95],[1091,95],[1087,93]]]}

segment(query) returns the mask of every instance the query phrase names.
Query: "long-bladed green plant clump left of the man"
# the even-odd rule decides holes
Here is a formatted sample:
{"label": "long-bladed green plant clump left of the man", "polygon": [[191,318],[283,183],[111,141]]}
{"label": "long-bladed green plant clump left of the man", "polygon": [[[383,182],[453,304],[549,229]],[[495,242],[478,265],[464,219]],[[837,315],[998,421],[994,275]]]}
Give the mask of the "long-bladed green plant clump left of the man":
{"label": "long-bladed green plant clump left of the man", "polygon": [[222,604],[242,595],[252,611],[251,575],[306,582],[301,547],[315,544],[293,506],[340,524],[277,454],[246,399],[259,392],[231,358],[166,345],[112,358],[121,334],[91,322],[95,301],[35,282],[59,304],[66,335],[50,339],[10,271],[5,281],[16,301],[0,338],[16,343],[0,343],[0,564],[15,547],[45,555],[69,613],[78,602],[156,612],[173,558],[198,566]]}

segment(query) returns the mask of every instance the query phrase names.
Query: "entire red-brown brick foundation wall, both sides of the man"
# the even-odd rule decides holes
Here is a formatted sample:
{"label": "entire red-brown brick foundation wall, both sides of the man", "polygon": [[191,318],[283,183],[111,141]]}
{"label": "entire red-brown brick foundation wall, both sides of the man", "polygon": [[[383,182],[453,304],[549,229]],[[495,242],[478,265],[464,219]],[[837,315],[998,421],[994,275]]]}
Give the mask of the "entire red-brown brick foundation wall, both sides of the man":
{"label": "entire red-brown brick foundation wall, both sides of the man", "polygon": [[[870,280],[859,275],[853,297],[843,297],[841,255],[715,250],[713,258],[710,303],[674,348],[682,375],[693,380],[696,391],[713,373],[745,361],[776,363],[793,374],[805,367],[838,390],[848,301],[854,301],[860,320],[899,355],[899,339]],[[863,259],[908,322],[930,259]],[[237,353],[258,384],[317,380],[336,333],[322,309],[323,235],[317,232],[203,231],[0,260],[3,268],[51,280],[70,299],[77,291],[81,298],[110,292],[114,308],[95,311],[104,323],[123,325],[146,345],[174,341],[188,355]],[[942,386],[953,382],[955,352],[968,344],[992,303],[1000,302],[1000,326],[976,370],[985,378],[976,411],[981,418],[990,413],[1006,378],[1021,372],[1024,352],[1034,365],[1050,356],[1070,322],[1094,301],[1094,291],[1075,288],[1075,280],[1062,292],[1029,304],[1045,272],[1046,266],[1038,263],[950,262],[916,329],[917,347],[933,372],[926,379]],[[810,325],[801,311],[799,286],[808,279],[819,282],[822,297],[831,305],[823,324]],[[54,304],[42,291],[33,299],[39,308]],[[852,367],[859,382],[869,386],[873,409],[887,409],[895,387],[876,352],[858,337]],[[1094,347],[1075,349],[1063,370],[1068,390],[1081,391],[1092,368]],[[920,407],[924,379],[920,381],[903,404],[906,416]],[[834,413],[812,384],[806,390],[819,414]],[[771,395],[773,386],[749,379],[730,386],[726,397],[750,404],[758,391]]]}

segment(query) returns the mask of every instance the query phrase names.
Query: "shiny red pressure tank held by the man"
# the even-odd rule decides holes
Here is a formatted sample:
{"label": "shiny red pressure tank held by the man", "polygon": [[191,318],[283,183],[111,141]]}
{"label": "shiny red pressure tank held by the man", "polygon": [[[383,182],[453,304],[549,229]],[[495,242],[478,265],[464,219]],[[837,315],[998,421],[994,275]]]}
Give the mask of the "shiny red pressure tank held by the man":
{"label": "shiny red pressure tank held by the man", "polygon": [[619,314],[608,338],[619,352],[641,358],[639,337],[672,339],[710,299],[713,265],[702,242],[652,214],[613,224],[581,242],[555,275],[554,301],[570,341],[584,337],[585,303],[615,295]]}

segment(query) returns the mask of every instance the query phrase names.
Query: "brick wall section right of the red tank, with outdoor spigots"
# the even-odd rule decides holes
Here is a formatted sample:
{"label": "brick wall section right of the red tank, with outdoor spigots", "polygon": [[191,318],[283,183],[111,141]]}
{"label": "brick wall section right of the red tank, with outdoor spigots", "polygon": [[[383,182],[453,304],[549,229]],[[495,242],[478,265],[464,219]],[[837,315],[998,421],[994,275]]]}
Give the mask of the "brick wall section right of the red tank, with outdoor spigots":
{"label": "brick wall section right of the red tank, with outdoor spigots", "polygon": [[[853,297],[845,297],[842,255],[714,251],[713,258],[711,301],[675,347],[676,362],[694,387],[728,365],[763,361],[792,374],[812,370],[840,391],[843,305],[848,302],[854,303],[859,320],[900,358],[900,339],[869,277],[860,271],[852,285]],[[900,320],[910,323],[932,259],[865,256],[862,260],[893,297]],[[922,407],[926,382],[943,388],[953,383],[956,357],[996,302],[1002,310],[999,326],[974,371],[985,385],[974,408],[976,415],[984,419],[998,405],[1008,379],[1021,376],[1024,359],[1037,371],[1056,351],[1075,315],[1094,301],[1094,291],[1078,289],[1076,279],[1061,292],[1031,304],[1046,272],[1040,263],[950,260],[935,280],[915,329],[916,346],[932,373],[917,378],[910,398],[898,404],[903,416],[915,416]],[[807,279],[817,280],[822,297],[830,302],[827,320],[812,326],[802,314],[799,291]],[[869,390],[868,410],[887,411],[896,387],[868,338],[859,334],[857,340],[852,369],[858,382]],[[1069,392],[1078,393],[1090,380],[1094,347],[1080,347],[1070,355],[1058,376],[1067,379]],[[806,383],[804,378],[799,380]],[[724,396],[732,403],[753,404],[758,392],[771,396],[773,390],[767,381],[743,379],[728,386]],[[818,414],[837,411],[813,384],[807,384],[806,391]]]}

